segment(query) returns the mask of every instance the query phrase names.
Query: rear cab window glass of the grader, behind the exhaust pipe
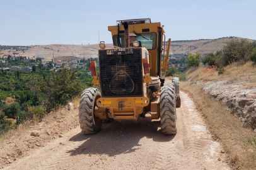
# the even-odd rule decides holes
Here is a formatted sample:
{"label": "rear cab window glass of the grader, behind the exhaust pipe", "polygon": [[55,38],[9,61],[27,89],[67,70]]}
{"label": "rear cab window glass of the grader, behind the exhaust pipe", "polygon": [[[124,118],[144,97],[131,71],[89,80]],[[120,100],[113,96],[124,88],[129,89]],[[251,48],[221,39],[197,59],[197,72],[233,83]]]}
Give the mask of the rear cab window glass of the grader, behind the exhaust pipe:
{"label": "rear cab window glass of the grader, behind the exhaust pipe", "polygon": [[[136,33],[136,40],[139,41],[139,46],[144,47],[148,50],[156,48],[156,33]],[[124,48],[124,34],[119,35],[120,46],[117,41],[117,35],[113,36],[113,45]],[[132,42],[130,42],[132,44]]]}

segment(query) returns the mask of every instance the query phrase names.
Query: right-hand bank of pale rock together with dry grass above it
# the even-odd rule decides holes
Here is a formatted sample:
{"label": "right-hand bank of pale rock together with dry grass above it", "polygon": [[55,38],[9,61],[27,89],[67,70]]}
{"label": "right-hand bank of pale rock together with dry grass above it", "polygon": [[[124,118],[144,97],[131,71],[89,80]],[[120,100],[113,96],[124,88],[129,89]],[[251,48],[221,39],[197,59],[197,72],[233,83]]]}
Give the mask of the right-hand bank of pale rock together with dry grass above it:
{"label": "right-hand bank of pale rock together with dry grass above it", "polygon": [[228,106],[243,127],[256,128],[256,67],[252,62],[228,65],[220,75],[216,69],[199,67],[187,77],[191,84],[202,86],[204,93]]}

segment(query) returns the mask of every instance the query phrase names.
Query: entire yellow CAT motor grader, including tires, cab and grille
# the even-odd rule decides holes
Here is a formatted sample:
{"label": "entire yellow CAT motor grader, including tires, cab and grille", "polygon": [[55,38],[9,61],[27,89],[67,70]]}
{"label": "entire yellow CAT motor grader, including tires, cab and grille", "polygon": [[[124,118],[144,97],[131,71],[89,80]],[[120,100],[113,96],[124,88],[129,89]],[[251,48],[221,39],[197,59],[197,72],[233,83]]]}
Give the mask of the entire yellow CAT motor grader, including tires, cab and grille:
{"label": "entire yellow CAT motor grader, including tires, cab and grille", "polygon": [[113,48],[100,42],[99,76],[96,63],[90,63],[93,84],[99,88],[85,89],[81,95],[82,132],[99,132],[103,120],[137,120],[150,113],[152,119],[161,119],[163,134],[177,133],[179,80],[165,82],[171,41],[166,43],[163,25],[151,23],[150,18],[120,20],[108,31]]}

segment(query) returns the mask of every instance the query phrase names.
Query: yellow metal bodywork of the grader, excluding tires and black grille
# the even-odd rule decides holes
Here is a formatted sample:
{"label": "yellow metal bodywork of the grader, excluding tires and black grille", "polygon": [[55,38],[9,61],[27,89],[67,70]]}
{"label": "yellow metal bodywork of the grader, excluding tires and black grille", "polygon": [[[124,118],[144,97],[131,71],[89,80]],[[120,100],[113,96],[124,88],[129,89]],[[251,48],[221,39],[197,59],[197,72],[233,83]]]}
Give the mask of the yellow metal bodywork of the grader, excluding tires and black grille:
{"label": "yellow metal bodywork of the grader, excluding tires and black grille", "polygon": [[[129,50],[134,50],[134,52],[136,50],[140,50],[141,59],[142,60],[147,59],[148,63],[151,66],[149,68],[149,73],[145,74],[144,64],[142,60],[139,65],[139,67],[141,67],[141,72],[142,72],[141,78],[143,80],[141,81],[143,82],[143,85],[142,85],[143,87],[141,90],[143,92],[139,96],[136,96],[136,95],[135,96],[122,96],[122,95],[106,96],[106,94],[104,96],[103,93],[106,91],[106,89],[108,90],[108,88],[106,88],[104,82],[101,81],[104,76],[103,73],[101,74],[101,72],[107,72],[107,69],[101,70],[102,65],[106,65],[106,63],[104,63],[104,60],[100,59],[100,57],[102,57],[103,55],[108,56],[108,55],[118,54],[117,52],[119,52],[119,50],[123,50],[124,47],[117,47],[117,45],[114,44],[114,48],[100,49],[99,50],[100,77],[95,76],[93,79],[93,84],[100,85],[100,91],[102,92],[102,97],[96,100],[96,108],[95,108],[94,114],[96,117],[99,117],[100,119],[115,118],[117,120],[122,120],[122,119],[137,120],[137,118],[139,118],[140,116],[144,116],[147,112],[150,112],[151,117],[153,119],[158,119],[160,118],[160,109],[159,109],[160,86],[161,86],[160,77],[165,76],[164,72],[166,72],[167,65],[169,62],[168,52],[170,48],[170,40],[168,41],[167,55],[166,57],[162,57],[162,51],[165,51],[165,47],[162,48],[163,45],[165,46],[165,43],[163,44],[163,41],[165,41],[165,35],[164,35],[165,30],[163,29],[163,25],[161,25],[161,23],[151,23],[151,22],[150,23],[134,23],[134,24],[129,23],[127,30],[129,30],[129,34],[136,33],[137,35],[139,35],[141,33],[155,33],[154,35],[156,35],[154,36],[154,38],[156,39],[154,38],[152,39],[152,42],[153,42],[152,49],[147,49],[146,45],[144,45],[143,43],[141,43],[141,47],[125,48],[125,50],[128,52]],[[117,35],[120,37],[124,37],[125,28],[124,28],[124,25],[108,26],[108,31],[111,31],[112,38],[116,37]],[[120,45],[120,46],[123,46],[123,45]],[[153,46],[155,48],[153,48]],[[117,68],[119,67],[110,68],[110,69],[117,69]],[[125,70],[121,72],[122,74],[124,74]],[[118,72],[117,72],[117,75],[118,75]],[[113,80],[111,80],[108,86],[111,86],[112,82]],[[157,87],[159,86],[159,88],[154,91],[151,91],[149,90],[150,88],[149,86],[151,86],[153,82],[156,84]],[[109,89],[111,90],[111,88]]]}

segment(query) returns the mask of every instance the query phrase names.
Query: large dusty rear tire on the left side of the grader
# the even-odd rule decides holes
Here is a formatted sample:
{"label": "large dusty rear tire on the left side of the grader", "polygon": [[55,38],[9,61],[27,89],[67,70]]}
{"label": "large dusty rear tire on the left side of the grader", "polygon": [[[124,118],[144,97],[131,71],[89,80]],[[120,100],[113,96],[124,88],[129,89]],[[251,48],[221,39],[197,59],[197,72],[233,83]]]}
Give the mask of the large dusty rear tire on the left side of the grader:
{"label": "large dusty rear tire on the left side of the grader", "polygon": [[98,98],[100,98],[100,90],[96,88],[85,89],[81,95],[79,123],[82,132],[85,134],[97,133],[102,128],[102,120],[93,114]]}

